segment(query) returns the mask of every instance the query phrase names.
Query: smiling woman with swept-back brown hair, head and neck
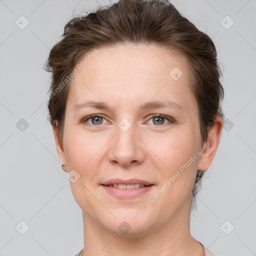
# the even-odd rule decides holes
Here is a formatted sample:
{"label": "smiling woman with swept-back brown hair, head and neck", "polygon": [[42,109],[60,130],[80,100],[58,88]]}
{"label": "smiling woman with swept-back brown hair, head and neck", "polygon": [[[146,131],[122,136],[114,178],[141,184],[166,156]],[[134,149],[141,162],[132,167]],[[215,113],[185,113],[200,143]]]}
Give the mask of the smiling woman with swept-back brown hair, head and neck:
{"label": "smiling woman with swept-back brown hair, head and neck", "polygon": [[76,255],[213,255],[189,230],[222,129],[209,36],[165,0],[119,0],[71,19],[46,64],[56,149],[82,209]]}

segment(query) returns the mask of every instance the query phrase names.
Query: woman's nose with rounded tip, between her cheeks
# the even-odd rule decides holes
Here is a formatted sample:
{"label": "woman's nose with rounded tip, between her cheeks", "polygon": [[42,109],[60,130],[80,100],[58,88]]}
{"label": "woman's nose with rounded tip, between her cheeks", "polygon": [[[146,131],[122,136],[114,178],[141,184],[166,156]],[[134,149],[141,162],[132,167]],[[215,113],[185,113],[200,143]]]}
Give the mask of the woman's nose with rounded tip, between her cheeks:
{"label": "woman's nose with rounded tip, between her cheeks", "polygon": [[143,162],[144,158],[145,146],[139,139],[134,125],[131,125],[126,131],[117,126],[116,134],[111,139],[108,160],[111,163],[129,166]]}

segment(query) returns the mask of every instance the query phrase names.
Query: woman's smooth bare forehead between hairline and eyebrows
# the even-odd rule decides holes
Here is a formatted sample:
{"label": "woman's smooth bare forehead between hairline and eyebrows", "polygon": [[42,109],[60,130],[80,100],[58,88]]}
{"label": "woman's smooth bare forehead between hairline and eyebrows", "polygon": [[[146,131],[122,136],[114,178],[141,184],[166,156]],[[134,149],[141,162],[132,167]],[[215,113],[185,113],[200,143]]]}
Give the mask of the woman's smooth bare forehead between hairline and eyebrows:
{"label": "woman's smooth bare forehead between hairline and eyebrows", "polygon": [[[97,48],[71,80],[73,101],[94,97],[108,103],[147,101],[191,96],[186,58],[156,45],[115,45]],[[80,63],[88,57],[87,52]],[[92,56],[91,55],[91,56]],[[189,94],[190,93],[190,94]],[[68,96],[69,97],[69,96]],[[183,99],[182,99],[183,97]],[[117,101],[116,101],[117,100]],[[182,104],[182,102],[180,102]]]}

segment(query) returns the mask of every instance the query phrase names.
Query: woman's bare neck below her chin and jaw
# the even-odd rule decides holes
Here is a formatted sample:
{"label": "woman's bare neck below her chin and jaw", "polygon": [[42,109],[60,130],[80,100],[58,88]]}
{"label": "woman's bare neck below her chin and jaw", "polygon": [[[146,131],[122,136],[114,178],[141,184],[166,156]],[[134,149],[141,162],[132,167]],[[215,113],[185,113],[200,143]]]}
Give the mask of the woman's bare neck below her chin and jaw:
{"label": "woman's bare neck below her chin and jaw", "polygon": [[[190,208],[183,209],[146,233],[113,233],[83,212],[84,249],[81,256],[203,256],[190,234]],[[167,253],[166,253],[167,252]]]}

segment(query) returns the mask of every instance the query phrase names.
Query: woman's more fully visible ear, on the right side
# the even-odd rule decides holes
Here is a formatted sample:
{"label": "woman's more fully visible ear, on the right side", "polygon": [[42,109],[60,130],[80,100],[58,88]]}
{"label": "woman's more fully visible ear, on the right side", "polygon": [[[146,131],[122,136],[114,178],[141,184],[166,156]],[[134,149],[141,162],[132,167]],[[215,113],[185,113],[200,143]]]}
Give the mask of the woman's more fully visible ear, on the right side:
{"label": "woman's more fully visible ear, on the right side", "polygon": [[204,171],[210,166],[218,148],[222,126],[223,120],[218,114],[215,116],[215,123],[213,127],[208,131],[207,141],[203,144],[201,155],[198,160],[198,170]]}

